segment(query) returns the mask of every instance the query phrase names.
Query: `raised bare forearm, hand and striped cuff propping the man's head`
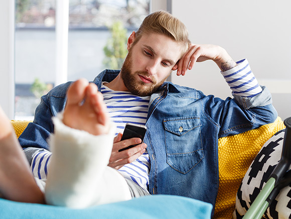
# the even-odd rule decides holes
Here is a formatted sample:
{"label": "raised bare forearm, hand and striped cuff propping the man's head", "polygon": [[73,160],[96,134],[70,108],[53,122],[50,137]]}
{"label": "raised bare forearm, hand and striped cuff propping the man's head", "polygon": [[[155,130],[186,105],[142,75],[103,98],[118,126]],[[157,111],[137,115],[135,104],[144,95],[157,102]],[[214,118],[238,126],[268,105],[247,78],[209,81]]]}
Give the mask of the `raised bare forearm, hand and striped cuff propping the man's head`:
{"label": "raised bare forearm, hand and striped cuff propping the man's head", "polygon": [[262,91],[247,60],[234,62],[220,46],[191,44],[173,70],[177,69],[177,75],[185,75],[187,69],[192,69],[196,62],[205,60],[213,60],[218,65],[233,95],[253,97]]}

